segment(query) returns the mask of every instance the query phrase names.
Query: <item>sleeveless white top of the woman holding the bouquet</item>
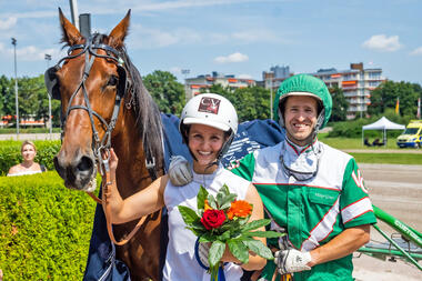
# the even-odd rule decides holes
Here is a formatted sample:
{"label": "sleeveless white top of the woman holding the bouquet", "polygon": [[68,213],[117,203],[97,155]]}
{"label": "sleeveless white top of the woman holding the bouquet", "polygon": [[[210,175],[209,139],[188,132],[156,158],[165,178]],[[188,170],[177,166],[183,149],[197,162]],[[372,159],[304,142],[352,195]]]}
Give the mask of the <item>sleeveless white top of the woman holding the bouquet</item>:
{"label": "sleeveless white top of the woman holding the bouquet", "polygon": [[[193,172],[193,171],[192,171]],[[184,187],[174,187],[169,181],[164,191],[164,203],[169,213],[169,243],[163,269],[163,280],[169,281],[209,281],[210,274],[201,268],[194,257],[197,237],[185,229],[184,221],[178,205],[185,205],[197,210],[197,195],[200,185],[210,194],[215,195],[223,184],[229,187],[231,193],[238,194],[238,200],[247,195],[250,182],[225,170],[221,164],[212,174],[198,174],[193,172],[193,181]],[[228,263],[224,267],[227,281],[240,280],[242,268]]]}

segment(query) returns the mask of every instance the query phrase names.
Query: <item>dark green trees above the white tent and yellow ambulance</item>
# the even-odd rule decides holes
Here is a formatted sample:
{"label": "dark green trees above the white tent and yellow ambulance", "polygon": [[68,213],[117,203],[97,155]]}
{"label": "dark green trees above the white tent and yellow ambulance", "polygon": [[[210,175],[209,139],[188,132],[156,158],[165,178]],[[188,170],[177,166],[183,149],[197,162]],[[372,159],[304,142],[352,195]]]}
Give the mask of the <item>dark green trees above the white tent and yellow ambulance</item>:
{"label": "dark green trees above the white tent and yellow ambulance", "polygon": [[398,98],[400,100],[401,116],[415,116],[418,98],[421,97],[419,84],[410,82],[386,81],[381,83],[371,93],[371,106],[368,107],[368,113],[382,114],[388,108],[394,109]]}

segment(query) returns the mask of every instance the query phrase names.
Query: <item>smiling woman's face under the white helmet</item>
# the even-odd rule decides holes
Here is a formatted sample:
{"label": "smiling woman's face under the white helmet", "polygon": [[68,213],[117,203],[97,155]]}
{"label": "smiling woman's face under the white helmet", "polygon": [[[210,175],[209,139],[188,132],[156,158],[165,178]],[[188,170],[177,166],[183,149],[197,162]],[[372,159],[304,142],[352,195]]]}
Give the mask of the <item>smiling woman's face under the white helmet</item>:
{"label": "smiling woman's face under the white helmet", "polygon": [[205,124],[192,124],[189,130],[189,148],[200,167],[212,163],[221,150],[225,137],[222,130]]}

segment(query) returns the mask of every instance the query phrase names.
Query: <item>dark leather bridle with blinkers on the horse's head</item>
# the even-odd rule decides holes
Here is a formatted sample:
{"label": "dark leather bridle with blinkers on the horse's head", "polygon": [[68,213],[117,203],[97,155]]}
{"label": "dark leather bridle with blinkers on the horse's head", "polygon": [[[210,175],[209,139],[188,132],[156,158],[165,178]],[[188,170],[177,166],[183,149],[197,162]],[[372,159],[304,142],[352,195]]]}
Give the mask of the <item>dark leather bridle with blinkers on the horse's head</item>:
{"label": "dark leather bridle with blinkers on the horse's head", "polygon": [[[125,93],[125,90],[131,87],[131,81],[130,79],[128,79],[128,76],[127,76],[128,70],[124,64],[124,60],[121,56],[121,52],[119,52],[118,50],[115,50],[114,48],[108,44],[100,43],[99,42],[100,38],[101,37],[94,37],[93,39],[86,40],[88,43],[71,46],[68,50],[68,56],[59,60],[59,62],[54,67],[49,68],[46,71],[44,80],[46,80],[46,86],[50,96],[53,97],[54,99],[61,100],[59,81],[56,76],[56,72],[59,71],[61,68],[60,63],[64,60],[74,59],[84,54],[86,63],[84,63],[84,70],[83,70],[81,82],[79,83],[79,86],[77,87],[77,89],[73,91],[72,96],[69,99],[69,106],[68,106],[68,109],[66,110],[66,114],[61,116],[62,134],[63,134],[63,129],[66,128],[66,122],[70,114],[70,111],[74,109],[86,110],[89,114],[91,128],[92,128],[92,138],[93,138],[92,150],[94,152],[97,161],[100,163],[100,168],[101,168],[100,173],[104,174],[105,170],[108,169],[108,167],[105,167],[108,165],[108,163],[105,163],[105,165],[101,164],[101,162],[103,161],[100,161],[100,160],[102,160],[103,152],[107,152],[111,148],[111,133],[115,127],[115,122],[117,122],[120,106],[121,106],[121,100]],[[74,50],[81,50],[81,52],[72,56],[71,53]],[[97,53],[98,50],[103,50],[105,51],[107,54],[105,56],[99,54]],[[92,68],[92,64],[96,58],[112,60],[117,63],[117,67],[118,67],[118,73],[119,73],[118,92],[115,94],[114,108],[113,108],[113,112],[112,112],[109,123],[99,113],[92,110],[91,104],[89,102],[89,98],[88,98],[86,81],[89,77],[90,70]],[[74,97],[78,94],[80,89],[82,89],[83,100],[84,100],[86,106],[83,104],[71,106]],[[105,127],[105,133],[101,140],[94,124],[94,120],[93,120],[94,116]]]}

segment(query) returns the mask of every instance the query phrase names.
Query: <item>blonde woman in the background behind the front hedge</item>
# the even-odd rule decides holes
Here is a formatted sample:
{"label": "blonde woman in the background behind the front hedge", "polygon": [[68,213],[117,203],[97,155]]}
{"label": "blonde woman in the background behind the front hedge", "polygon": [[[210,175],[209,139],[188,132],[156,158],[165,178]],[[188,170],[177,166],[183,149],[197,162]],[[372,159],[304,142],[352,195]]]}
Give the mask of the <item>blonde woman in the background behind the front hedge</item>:
{"label": "blonde woman in the background behind the front hedge", "polygon": [[37,148],[32,141],[23,141],[20,149],[22,154],[22,163],[16,164],[9,169],[8,177],[33,174],[46,171],[46,167],[34,162],[37,155]]}

